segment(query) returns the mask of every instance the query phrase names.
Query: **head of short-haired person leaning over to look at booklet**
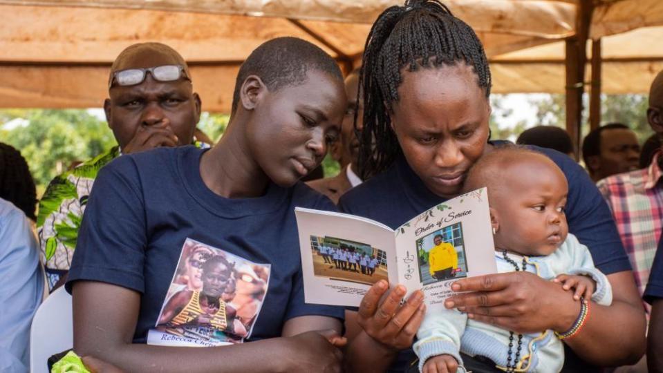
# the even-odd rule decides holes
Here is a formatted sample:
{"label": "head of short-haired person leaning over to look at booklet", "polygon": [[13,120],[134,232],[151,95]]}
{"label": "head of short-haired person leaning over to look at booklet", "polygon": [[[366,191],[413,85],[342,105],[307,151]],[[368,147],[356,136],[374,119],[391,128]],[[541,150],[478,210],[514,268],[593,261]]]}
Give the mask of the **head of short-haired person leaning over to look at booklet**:
{"label": "head of short-haired person leaning over to look at booklet", "polygon": [[239,69],[229,130],[241,133],[237,141],[270,180],[289,187],[322,162],[345,105],[334,59],[308,41],[280,37]]}

